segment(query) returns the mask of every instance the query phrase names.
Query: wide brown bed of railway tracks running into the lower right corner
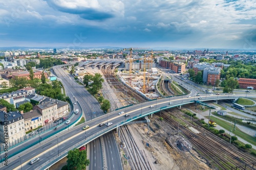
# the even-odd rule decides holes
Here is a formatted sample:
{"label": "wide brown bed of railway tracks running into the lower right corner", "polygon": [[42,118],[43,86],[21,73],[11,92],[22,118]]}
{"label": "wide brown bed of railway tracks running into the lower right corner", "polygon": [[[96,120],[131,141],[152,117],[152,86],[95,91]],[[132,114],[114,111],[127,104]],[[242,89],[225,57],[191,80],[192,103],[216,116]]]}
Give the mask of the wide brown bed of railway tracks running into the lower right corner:
{"label": "wide brown bed of railway tracks running into the lower right corner", "polygon": [[202,153],[206,160],[208,160],[208,162],[212,162],[211,164],[215,164],[219,169],[255,169],[255,166],[253,167],[253,163],[256,163],[256,159],[252,156],[241,152],[233,145],[230,145],[225,140],[206,131],[199,125],[191,124],[187,119],[182,117],[182,115],[177,114],[172,110],[162,111],[161,117],[163,117],[164,120],[166,120],[166,122],[168,122],[173,128],[177,129],[178,122],[170,118],[170,114],[175,115],[183,120],[187,125],[200,132],[195,134],[184,126],[180,126],[179,128],[186,138],[189,139],[189,141],[196,146],[198,151]]}

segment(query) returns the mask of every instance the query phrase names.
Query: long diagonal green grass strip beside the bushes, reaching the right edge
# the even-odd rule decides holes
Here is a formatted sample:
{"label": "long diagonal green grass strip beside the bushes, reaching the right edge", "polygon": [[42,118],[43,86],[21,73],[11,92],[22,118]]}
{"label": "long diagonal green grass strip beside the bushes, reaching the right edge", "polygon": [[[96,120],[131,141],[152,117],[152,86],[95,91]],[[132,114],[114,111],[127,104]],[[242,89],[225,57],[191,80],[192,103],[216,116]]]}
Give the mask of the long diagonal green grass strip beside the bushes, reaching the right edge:
{"label": "long diagonal green grass strip beside the bushes, reaching the right edge", "polygon": [[[217,117],[211,117],[210,118],[211,120],[214,120],[214,122],[218,125],[218,126],[221,126],[223,127],[225,130],[229,130],[230,129],[230,123],[227,123],[226,121],[224,120],[221,120]],[[231,128],[233,128],[233,126],[231,125]],[[228,132],[226,132],[228,133]],[[253,137],[253,136],[250,136],[246,133],[244,133],[243,131],[241,131],[239,128],[236,127],[236,130],[235,131],[232,131],[232,135],[237,135],[239,136],[240,138],[246,140],[247,142],[253,144],[253,145],[256,145],[256,137]]]}

